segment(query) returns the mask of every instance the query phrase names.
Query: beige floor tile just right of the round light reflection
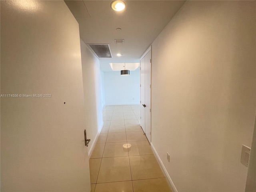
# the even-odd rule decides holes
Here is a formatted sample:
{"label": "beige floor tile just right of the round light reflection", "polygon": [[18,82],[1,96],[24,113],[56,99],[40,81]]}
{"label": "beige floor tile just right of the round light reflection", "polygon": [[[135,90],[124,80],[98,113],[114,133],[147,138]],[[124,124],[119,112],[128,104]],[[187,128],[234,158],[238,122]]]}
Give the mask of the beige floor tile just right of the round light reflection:
{"label": "beige floor tile just right of the round light reflection", "polygon": [[131,147],[128,148],[129,156],[153,154],[148,141],[132,141],[128,144],[131,144]]}

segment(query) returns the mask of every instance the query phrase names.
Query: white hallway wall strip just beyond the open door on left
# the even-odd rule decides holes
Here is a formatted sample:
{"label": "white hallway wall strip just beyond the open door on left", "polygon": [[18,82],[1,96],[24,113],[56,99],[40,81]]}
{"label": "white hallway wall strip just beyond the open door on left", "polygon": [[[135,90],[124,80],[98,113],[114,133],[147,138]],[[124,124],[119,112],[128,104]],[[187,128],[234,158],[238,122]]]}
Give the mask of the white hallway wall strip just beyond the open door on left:
{"label": "white hallway wall strip just beyond the open door on left", "polygon": [[86,135],[88,139],[91,139],[88,145],[88,151],[90,151],[94,140],[97,138],[98,132],[100,132],[103,126],[100,61],[82,40],[80,40],[80,43],[84,84]]}

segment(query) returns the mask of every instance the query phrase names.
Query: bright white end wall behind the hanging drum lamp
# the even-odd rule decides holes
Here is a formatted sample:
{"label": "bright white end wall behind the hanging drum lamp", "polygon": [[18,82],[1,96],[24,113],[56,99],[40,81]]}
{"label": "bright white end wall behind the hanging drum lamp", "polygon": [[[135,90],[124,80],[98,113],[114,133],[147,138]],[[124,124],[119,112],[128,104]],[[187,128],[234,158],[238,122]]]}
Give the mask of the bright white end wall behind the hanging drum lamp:
{"label": "bright white end wall behind the hanging drum lamp", "polygon": [[140,72],[120,75],[120,71],[104,72],[106,105],[140,103]]}

